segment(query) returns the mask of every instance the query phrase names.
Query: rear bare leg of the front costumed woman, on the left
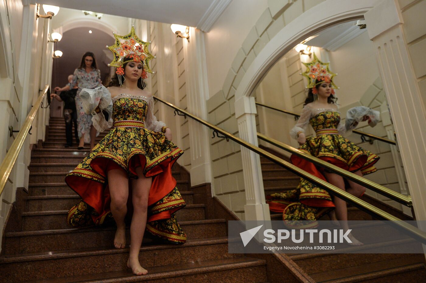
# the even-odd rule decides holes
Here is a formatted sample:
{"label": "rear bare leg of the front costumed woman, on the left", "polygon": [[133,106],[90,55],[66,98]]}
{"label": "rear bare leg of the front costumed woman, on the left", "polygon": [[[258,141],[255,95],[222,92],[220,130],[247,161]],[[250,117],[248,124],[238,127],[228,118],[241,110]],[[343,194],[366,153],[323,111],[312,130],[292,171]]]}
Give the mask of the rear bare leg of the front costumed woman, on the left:
{"label": "rear bare leg of the front costumed woman, on the left", "polygon": [[117,249],[126,246],[126,224],[124,217],[127,213],[127,198],[129,197],[129,178],[123,169],[108,171],[109,193],[111,195],[111,212],[117,224],[114,246]]}

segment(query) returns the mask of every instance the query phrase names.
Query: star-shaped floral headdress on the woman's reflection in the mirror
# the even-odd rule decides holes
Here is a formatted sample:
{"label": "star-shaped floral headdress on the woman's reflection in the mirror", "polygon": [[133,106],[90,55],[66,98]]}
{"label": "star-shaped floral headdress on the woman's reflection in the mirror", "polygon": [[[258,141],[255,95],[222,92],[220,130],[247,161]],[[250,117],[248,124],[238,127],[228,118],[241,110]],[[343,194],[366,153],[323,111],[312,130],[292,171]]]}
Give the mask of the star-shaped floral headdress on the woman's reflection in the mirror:
{"label": "star-shaped floral headdress on the woman's reflection in the mirror", "polygon": [[306,66],[306,71],[302,73],[302,75],[308,79],[308,85],[306,88],[312,88],[312,93],[314,93],[314,100],[316,100],[315,96],[318,94],[317,85],[321,84],[322,82],[331,83],[331,88],[333,88],[331,93],[334,94],[334,89],[338,87],[334,84],[333,78],[337,74],[334,74],[332,71],[330,71],[330,62],[321,62],[314,53],[314,59],[309,63],[303,63],[303,65]]}

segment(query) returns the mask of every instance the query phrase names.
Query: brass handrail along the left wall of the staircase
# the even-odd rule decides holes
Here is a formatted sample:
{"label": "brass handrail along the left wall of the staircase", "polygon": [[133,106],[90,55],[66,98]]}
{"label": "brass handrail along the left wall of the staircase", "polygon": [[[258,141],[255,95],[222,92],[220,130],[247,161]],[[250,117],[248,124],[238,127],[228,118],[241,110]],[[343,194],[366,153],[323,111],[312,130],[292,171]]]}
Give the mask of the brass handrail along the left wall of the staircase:
{"label": "brass handrail along the left wall of the staircase", "polygon": [[29,111],[24,124],[13,141],[12,145],[9,148],[9,151],[6,153],[3,162],[0,165],[0,195],[2,194],[4,187],[6,186],[7,179],[9,178],[12,168],[18,158],[19,152],[25,142],[28,131],[31,127],[32,121],[34,120],[35,115],[37,114],[38,108],[40,108],[43,98],[49,90],[49,85],[46,85],[43,93],[38,96],[35,105]]}

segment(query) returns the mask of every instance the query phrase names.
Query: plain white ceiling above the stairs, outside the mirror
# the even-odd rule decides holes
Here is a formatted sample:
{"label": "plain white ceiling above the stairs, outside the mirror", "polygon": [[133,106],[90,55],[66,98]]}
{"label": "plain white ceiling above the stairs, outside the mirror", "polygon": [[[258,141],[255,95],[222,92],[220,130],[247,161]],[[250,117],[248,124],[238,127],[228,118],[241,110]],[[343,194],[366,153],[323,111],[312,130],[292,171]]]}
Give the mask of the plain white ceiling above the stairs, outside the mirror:
{"label": "plain white ceiling above the stairs, outside the mirror", "polygon": [[[94,11],[208,31],[232,0],[40,0],[37,3]],[[60,13],[60,11],[59,11]]]}

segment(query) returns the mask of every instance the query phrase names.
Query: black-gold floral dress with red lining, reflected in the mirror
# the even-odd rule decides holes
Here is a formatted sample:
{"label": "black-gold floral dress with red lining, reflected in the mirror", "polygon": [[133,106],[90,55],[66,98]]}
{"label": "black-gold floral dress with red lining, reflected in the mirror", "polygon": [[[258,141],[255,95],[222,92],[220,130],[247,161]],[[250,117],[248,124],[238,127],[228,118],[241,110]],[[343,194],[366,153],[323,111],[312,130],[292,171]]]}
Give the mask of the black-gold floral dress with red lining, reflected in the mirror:
{"label": "black-gold floral dress with red lining, reflected in the mirror", "polygon": [[[380,157],[358,147],[341,135],[351,129],[346,129],[345,124],[340,121],[339,111],[333,108],[313,109],[305,106],[299,121],[290,132],[291,136],[296,139],[298,132],[305,133],[308,123],[314,128],[316,136],[306,138],[305,144],[299,147],[299,150],[351,172],[361,170],[363,175],[366,175],[377,171],[374,164]],[[323,168],[316,167],[296,155],[291,156],[291,162],[327,181],[322,174]],[[334,207],[327,191],[303,178],[300,178],[296,190],[268,195],[267,199],[271,211],[283,212],[284,221],[314,221],[311,226],[316,226],[315,220]]]}

